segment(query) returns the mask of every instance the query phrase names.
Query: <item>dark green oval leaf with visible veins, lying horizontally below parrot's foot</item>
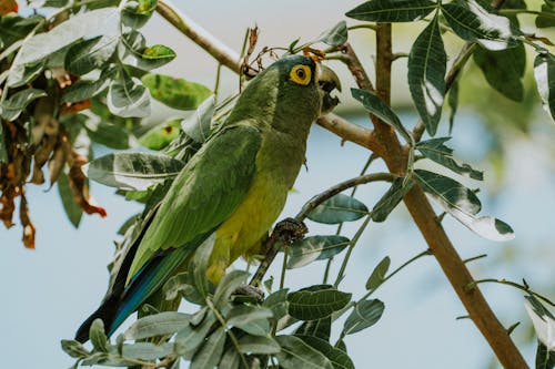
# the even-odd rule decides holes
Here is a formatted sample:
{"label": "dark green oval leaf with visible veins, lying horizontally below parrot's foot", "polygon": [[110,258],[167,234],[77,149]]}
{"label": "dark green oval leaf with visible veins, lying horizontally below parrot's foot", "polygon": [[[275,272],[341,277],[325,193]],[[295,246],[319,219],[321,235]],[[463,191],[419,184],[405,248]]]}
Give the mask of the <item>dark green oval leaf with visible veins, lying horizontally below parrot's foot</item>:
{"label": "dark green oval leaf with visible veins, lying horizontally below parrot's foot", "polygon": [[351,296],[327,285],[303,288],[287,295],[289,314],[300,320],[325,318],[345,307]]}

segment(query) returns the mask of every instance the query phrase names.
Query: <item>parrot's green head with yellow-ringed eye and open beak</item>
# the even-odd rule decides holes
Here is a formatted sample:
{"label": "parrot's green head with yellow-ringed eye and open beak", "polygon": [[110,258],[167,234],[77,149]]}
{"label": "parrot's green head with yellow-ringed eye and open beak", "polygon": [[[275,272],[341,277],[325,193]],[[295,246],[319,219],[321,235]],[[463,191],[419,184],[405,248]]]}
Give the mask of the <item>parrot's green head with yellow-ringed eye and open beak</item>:
{"label": "parrot's green head with yellow-ringed eye and open beak", "polygon": [[235,106],[248,106],[251,116],[271,117],[278,131],[307,133],[312,122],[337,104],[330,95],[334,89],[341,84],[331,69],[311,57],[290,55],[259,73]]}

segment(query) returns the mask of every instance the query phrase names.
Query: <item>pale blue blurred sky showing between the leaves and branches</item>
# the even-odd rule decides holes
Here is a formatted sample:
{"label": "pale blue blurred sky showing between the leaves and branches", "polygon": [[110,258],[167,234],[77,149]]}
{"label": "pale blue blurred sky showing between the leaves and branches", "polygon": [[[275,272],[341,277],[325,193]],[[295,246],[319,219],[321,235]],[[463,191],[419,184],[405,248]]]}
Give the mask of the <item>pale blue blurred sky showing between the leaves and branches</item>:
{"label": "pale blue blurred sky showing between the leaves and branches", "polygon": [[[178,1],[175,1],[178,3]],[[182,4],[179,2],[180,6]],[[343,19],[342,13],[360,1],[186,1],[183,11],[214,33],[222,42],[239,50],[246,27],[258,23],[261,29],[260,45],[286,45],[302,35],[304,40]],[[144,29],[151,43],[165,43],[176,50],[179,58],[161,72],[183,76],[213,85],[215,62],[163,21],[155,18]],[[372,70],[373,41],[365,34],[353,40],[361,59]],[[411,39],[402,41],[410,44]],[[406,49],[404,50],[406,51]],[[403,63],[398,63],[403,64]],[[395,66],[397,68],[397,66]],[[402,66],[398,66],[400,69]],[[341,65],[334,69],[342,75],[345,89],[352,84]],[[404,73],[394,84],[394,102],[406,105]],[[233,91],[236,78],[224,73],[225,91]],[[398,93],[397,93],[398,92]],[[346,105],[352,99],[344,95]],[[162,110],[161,110],[162,111]],[[484,122],[468,110],[457,120],[452,146],[457,157],[486,172],[480,197],[481,214],[493,215],[507,222],[516,233],[515,242],[484,240],[448,216],[444,219],[447,234],[463,258],[488,254],[487,259],[470,264],[477,278],[496,277],[521,280],[523,277],[538,291],[555,296],[553,290],[553,208],[555,208],[554,139],[552,123],[538,110],[537,124],[531,136],[513,135],[506,154],[506,177],[502,188],[492,167],[484,161],[491,144]],[[164,112],[155,112],[155,116]],[[369,126],[366,119],[355,119]],[[414,114],[402,114],[403,122],[412,126]],[[442,123],[441,134],[446,134]],[[282,217],[296,214],[312,195],[342,180],[356,176],[367,158],[367,151],[346,143],[341,145],[333,134],[314,126],[309,140],[307,171],[302,170]],[[440,136],[440,134],[438,134]],[[105,152],[98,147],[98,153]],[[373,171],[382,171],[380,164]],[[84,216],[80,228],[74,229],[67,219],[54,186],[29,186],[28,198],[31,216],[38,229],[37,249],[24,249],[20,242],[21,229],[0,229],[0,338],[2,367],[4,368],[67,368],[72,359],[60,349],[60,339],[72,338],[81,321],[101,300],[108,283],[105,265],[112,258],[115,232],[130,216],[141,209],[115,196],[112,188],[91,184],[91,193],[105,207],[108,217]],[[369,207],[386,189],[383,185],[361,188],[357,198]],[[495,191],[494,191],[495,189]],[[311,234],[333,234],[333,226],[307,224]],[[345,228],[347,236],[357,223]],[[385,224],[371,224],[355,248],[341,289],[361,296],[364,283],[375,265],[386,255],[392,259],[391,269],[426,248],[404,209],[400,206]],[[280,265],[275,262],[274,265]],[[297,289],[321,283],[323,264],[287,273],[286,284]],[[335,265],[337,267],[337,265]],[[332,270],[332,276],[337,268]],[[275,274],[278,277],[279,274]],[[529,363],[534,350],[526,344],[529,336],[522,294],[500,285],[483,285],[483,291],[503,324],[508,327],[522,320],[523,328],[514,332],[515,340]],[[380,288],[374,298],[385,303],[385,312],[376,326],[346,338],[349,353],[357,368],[485,368],[491,351],[465,315],[462,304],[451,289],[433,257],[422,258],[408,266]]]}

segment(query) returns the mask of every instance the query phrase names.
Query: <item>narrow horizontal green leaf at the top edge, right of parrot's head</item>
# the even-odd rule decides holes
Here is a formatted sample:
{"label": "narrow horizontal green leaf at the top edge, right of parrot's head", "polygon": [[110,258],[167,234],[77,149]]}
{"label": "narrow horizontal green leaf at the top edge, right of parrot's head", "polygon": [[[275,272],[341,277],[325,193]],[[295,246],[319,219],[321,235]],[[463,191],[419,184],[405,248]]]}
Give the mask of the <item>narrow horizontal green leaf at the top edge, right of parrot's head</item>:
{"label": "narrow horizontal green leaf at the top edge, right of parrot's head", "polygon": [[427,0],[367,1],[345,13],[371,22],[413,22],[430,14],[437,4]]}

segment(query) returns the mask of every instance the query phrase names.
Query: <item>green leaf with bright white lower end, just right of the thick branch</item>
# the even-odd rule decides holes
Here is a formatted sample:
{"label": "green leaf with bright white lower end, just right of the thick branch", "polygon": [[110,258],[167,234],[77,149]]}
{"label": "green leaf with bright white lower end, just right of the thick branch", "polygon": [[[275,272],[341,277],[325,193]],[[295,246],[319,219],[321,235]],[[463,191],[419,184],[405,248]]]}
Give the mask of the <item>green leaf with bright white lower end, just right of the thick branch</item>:
{"label": "green leaf with bright white lower end, just right of the thick branch", "polygon": [[503,221],[490,216],[475,216],[481,204],[474,192],[455,180],[443,175],[416,170],[415,178],[430,196],[455,219],[472,232],[491,240],[511,240],[514,233]]}

